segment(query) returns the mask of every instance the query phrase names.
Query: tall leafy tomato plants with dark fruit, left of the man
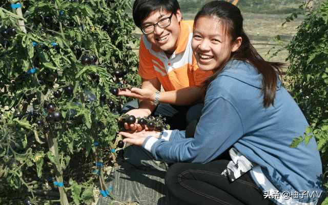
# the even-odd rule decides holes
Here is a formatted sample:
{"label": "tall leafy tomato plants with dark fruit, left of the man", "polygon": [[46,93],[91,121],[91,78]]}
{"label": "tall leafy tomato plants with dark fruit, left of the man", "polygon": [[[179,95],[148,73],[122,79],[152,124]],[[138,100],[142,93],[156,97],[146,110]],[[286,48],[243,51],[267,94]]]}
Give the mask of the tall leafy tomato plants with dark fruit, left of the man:
{"label": "tall leafy tomato plants with dark fruit, left of the man", "polygon": [[[16,29],[12,36],[0,35],[0,185],[8,193],[20,190],[20,196],[28,195],[37,204],[36,190],[46,184],[49,188],[47,178],[55,177],[64,181],[58,189],[64,189],[69,202],[90,204],[90,187],[98,178],[92,173],[94,161],[113,160],[108,150],[115,148],[120,109],[127,101],[112,89],[140,84],[138,58],[131,49],[138,39],[125,13],[130,1],[22,3],[24,18],[0,1],[0,32]],[[26,33],[17,20],[25,22]],[[85,63],[84,56],[91,62]],[[115,71],[126,74],[117,77]],[[61,95],[56,97],[56,91]],[[52,112],[46,108],[49,103],[61,119],[46,120]],[[103,173],[99,175],[103,180]],[[60,203],[67,204],[61,191]]]}

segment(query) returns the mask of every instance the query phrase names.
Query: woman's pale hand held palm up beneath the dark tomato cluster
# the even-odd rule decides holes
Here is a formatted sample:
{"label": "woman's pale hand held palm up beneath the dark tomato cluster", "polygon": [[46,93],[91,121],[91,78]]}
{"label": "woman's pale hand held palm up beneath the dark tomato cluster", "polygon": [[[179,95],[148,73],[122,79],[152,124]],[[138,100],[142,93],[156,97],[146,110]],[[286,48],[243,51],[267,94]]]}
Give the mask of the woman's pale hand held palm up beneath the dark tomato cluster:
{"label": "woman's pale hand held palm up beneath the dark tomato cluster", "polygon": [[148,136],[153,136],[158,138],[160,132],[142,130],[141,132],[135,132],[135,133],[119,132],[119,134],[126,137],[125,139],[123,139],[124,142],[128,142],[130,144],[137,145],[137,146],[142,146],[142,144],[144,144],[144,141]]}

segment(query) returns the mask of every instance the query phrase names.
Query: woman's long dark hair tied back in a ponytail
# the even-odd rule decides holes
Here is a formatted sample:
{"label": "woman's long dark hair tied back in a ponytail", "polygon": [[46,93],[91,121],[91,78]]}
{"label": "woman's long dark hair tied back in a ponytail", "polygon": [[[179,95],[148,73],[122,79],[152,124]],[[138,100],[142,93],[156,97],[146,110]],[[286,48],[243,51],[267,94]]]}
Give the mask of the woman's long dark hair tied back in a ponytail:
{"label": "woman's long dark hair tied back in a ponytail", "polygon": [[231,42],[235,42],[237,37],[242,38],[239,49],[231,53],[230,58],[221,65],[218,70],[204,82],[204,86],[208,87],[212,80],[222,71],[224,66],[231,59],[248,61],[262,75],[262,93],[263,106],[268,108],[273,105],[276,95],[278,75],[281,76],[281,68],[283,63],[265,61],[252,46],[250,39],[243,30],[243,18],[238,7],[225,1],[213,1],[204,5],[196,14],[194,20],[194,28],[196,22],[201,16],[218,17],[222,25],[226,27],[226,33],[230,35]]}

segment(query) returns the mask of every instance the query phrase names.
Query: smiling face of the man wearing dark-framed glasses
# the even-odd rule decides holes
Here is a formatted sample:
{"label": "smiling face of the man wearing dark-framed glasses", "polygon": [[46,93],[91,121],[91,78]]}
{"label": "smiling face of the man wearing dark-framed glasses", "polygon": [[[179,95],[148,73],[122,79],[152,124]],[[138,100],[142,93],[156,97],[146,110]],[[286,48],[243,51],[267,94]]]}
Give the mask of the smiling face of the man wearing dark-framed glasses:
{"label": "smiling face of the man wearing dark-framed glasses", "polygon": [[[163,18],[170,17],[171,14],[171,12],[163,9],[155,10],[142,21],[141,27],[143,28],[148,25],[154,25]],[[148,41],[167,54],[172,54],[177,47],[177,40],[180,32],[180,20],[181,13],[178,10],[175,15],[172,15],[171,24],[168,27],[160,28],[156,25],[152,33],[145,34]]]}

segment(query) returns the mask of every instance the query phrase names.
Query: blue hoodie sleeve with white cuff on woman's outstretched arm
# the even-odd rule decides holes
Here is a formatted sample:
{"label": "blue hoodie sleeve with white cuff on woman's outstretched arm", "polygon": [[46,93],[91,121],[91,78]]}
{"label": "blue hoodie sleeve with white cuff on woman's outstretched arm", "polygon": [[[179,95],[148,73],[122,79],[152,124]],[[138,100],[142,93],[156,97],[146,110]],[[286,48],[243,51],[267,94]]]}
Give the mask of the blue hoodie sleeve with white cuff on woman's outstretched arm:
{"label": "blue hoodie sleeve with white cuff on woman's outstretched arm", "polygon": [[143,147],[157,160],[206,163],[235,144],[243,135],[243,127],[230,101],[218,97],[205,101],[194,138],[179,137],[182,133],[173,130],[173,140],[148,137]]}

